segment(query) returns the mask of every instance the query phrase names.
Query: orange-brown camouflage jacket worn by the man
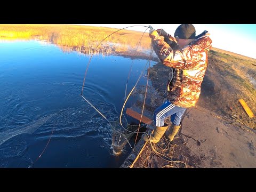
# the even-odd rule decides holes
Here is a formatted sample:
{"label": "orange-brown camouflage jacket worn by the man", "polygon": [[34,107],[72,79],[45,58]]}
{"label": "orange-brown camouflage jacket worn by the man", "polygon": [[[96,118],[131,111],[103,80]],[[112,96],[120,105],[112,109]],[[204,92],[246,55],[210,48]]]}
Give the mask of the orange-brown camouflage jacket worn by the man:
{"label": "orange-brown camouflage jacket worn by the man", "polygon": [[163,65],[170,67],[167,83],[167,99],[179,107],[193,107],[199,99],[201,84],[207,67],[207,53],[212,47],[208,31],[196,36],[195,40],[179,49],[177,41],[167,34],[164,41],[156,36],[152,46]]}

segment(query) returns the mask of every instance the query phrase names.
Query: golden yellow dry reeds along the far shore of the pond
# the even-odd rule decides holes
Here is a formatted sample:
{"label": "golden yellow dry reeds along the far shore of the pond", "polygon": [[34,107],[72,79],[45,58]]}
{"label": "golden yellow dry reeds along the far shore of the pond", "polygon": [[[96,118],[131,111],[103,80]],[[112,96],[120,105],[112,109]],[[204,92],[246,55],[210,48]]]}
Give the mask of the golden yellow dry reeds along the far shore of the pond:
{"label": "golden yellow dry reeds along the far shore of the pond", "polygon": [[[95,47],[104,38],[117,30],[107,27],[76,25],[0,25],[0,37],[34,37],[60,46],[71,47],[71,50],[91,54],[93,51],[95,52]],[[106,53],[110,53],[113,50],[122,52],[129,49],[129,47],[135,49],[139,44],[142,34],[139,31],[120,30],[102,42],[98,53],[102,52],[102,50]],[[149,49],[150,43],[150,38],[145,34],[139,46],[142,49]]]}

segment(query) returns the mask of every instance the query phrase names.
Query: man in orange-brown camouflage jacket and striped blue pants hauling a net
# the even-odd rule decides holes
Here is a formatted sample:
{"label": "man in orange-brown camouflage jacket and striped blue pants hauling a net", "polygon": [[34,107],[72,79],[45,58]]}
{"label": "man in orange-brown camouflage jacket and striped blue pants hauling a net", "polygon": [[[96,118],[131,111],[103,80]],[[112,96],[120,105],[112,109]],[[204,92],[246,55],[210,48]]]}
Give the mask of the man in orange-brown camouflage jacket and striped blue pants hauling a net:
{"label": "man in orange-brown camouflage jacket and striped blue pants hauling a net", "polygon": [[[154,111],[155,128],[151,135],[143,134],[145,141],[157,143],[163,134],[173,141],[181,126],[181,117],[188,107],[195,106],[201,93],[201,84],[207,67],[207,54],[212,47],[208,31],[196,36],[195,27],[191,24],[180,25],[174,37],[163,29],[149,32],[151,44],[163,65],[170,67],[167,83],[167,100]],[[164,41],[170,45],[166,46]],[[164,123],[171,116],[172,125],[169,131]]]}

